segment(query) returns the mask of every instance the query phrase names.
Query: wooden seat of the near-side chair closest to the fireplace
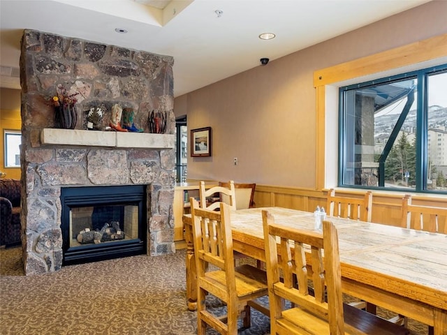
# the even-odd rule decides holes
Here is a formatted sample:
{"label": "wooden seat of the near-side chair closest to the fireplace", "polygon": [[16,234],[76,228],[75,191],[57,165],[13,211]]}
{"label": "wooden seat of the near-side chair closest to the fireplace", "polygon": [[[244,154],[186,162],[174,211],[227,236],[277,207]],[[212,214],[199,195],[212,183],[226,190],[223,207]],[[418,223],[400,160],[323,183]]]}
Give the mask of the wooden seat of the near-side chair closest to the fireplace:
{"label": "wooden seat of the near-side chair closest to the fireplace", "polygon": [[[226,274],[225,271],[210,271],[205,277],[199,278],[201,285],[212,285],[221,287],[221,296],[219,299],[226,301]],[[242,265],[235,268],[236,295],[239,298],[256,299],[263,297],[267,292],[267,276],[265,271],[252,267],[251,265]]]}

